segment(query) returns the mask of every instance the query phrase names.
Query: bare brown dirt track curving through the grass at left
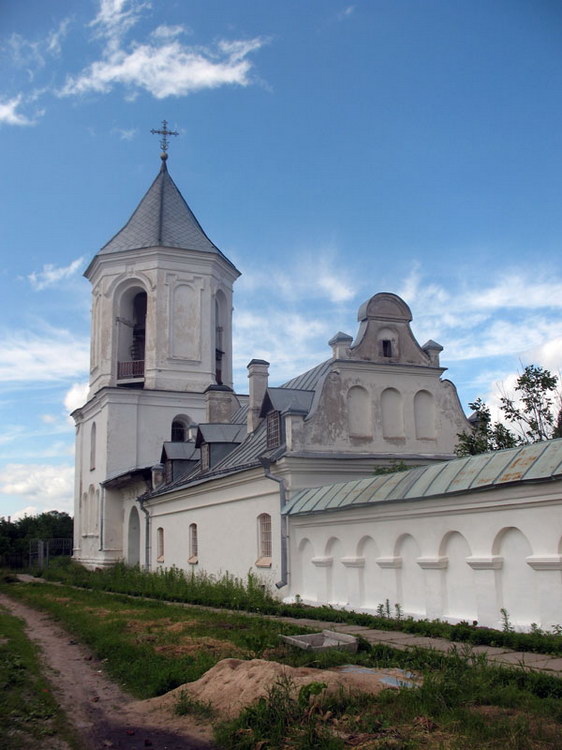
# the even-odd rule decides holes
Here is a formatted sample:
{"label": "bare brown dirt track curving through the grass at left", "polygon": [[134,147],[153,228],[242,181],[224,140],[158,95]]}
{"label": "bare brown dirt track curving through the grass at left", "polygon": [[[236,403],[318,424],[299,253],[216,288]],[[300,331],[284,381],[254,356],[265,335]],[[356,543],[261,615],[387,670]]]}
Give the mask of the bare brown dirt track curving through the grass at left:
{"label": "bare brown dirt track curving through the grass at left", "polygon": [[84,750],[209,750],[209,730],[168,712],[146,715],[139,701],[111,682],[90,652],[47,615],[0,594],[0,604],[27,624],[43,652],[46,676]]}

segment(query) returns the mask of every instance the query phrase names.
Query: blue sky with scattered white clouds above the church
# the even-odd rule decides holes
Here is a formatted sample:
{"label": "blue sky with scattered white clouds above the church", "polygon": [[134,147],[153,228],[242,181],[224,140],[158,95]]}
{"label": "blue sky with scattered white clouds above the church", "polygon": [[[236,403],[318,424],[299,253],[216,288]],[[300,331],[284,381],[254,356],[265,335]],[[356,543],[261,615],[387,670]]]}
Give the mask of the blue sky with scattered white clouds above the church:
{"label": "blue sky with scattered white clouds above the church", "polygon": [[236,387],[373,294],[463,407],[562,365],[559,0],[0,0],[0,516],[72,512],[82,273],[168,168],[235,285]]}

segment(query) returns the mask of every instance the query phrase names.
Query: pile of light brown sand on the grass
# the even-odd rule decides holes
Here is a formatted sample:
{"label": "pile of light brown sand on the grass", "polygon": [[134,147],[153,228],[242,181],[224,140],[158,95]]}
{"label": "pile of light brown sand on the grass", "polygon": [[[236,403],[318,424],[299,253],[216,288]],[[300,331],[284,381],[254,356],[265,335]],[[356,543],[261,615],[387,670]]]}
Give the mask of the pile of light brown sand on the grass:
{"label": "pile of light brown sand on the grass", "polygon": [[[376,694],[393,687],[404,679],[400,669],[385,669],[365,672],[341,672],[309,667],[288,667],[274,661],[252,659],[223,659],[209,669],[196,682],[189,682],[158,698],[143,701],[148,711],[173,710],[179,694],[187,692],[192,698],[210,703],[222,718],[237,716],[246,706],[254,703],[280,678],[289,678],[298,693],[302,685],[309,682],[324,682],[328,690],[344,690]],[[385,682],[386,680],[386,682]],[[396,685],[394,685],[396,686]]]}

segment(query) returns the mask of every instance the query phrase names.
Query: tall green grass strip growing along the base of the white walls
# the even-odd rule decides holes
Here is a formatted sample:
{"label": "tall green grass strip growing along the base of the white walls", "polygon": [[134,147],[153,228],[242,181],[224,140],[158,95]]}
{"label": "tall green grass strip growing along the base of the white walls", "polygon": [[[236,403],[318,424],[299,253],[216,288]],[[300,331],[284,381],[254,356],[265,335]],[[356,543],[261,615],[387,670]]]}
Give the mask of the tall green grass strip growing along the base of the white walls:
{"label": "tall green grass strip growing along the base of the white walls", "polygon": [[[383,604],[379,606],[377,615],[342,611],[327,606],[308,607],[303,604],[284,604],[275,599],[262,586],[259,578],[252,574],[249,574],[246,580],[229,575],[217,579],[205,573],[186,573],[178,568],[145,572],[122,564],[114,565],[106,570],[91,571],[69,559],[61,560],[59,564],[41,571],[41,574],[50,580],[94,591],[112,591],[283,617],[346,622],[379,630],[397,630],[421,636],[447,638],[473,646],[499,646],[515,651],[562,656],[560,632],[545,633],[535,627],[530,633],[517,633],[512,629],[494,630],[468,622],[451,625],[440,620],[391,617],[390,613],[396,605],[391,608],[388,601],[386,607]],[[399,607],[397,610],[399,614]],[[508,613],[506,615],[508,616]]]}

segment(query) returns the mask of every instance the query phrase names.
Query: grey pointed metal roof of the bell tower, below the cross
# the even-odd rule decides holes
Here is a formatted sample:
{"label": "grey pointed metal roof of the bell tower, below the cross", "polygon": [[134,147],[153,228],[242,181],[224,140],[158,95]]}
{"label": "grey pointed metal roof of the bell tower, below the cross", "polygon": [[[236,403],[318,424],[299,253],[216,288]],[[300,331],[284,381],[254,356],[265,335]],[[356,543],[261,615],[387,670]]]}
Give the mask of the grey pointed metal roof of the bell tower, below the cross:
{"label": "grey pointed metal roof of the bell tower, below the cross", "polygon": [[160,172],[129,221],[98,255],[145,247],[176,247],[217,253],[230,263],[203,231],[170,177],[164,159]]}

